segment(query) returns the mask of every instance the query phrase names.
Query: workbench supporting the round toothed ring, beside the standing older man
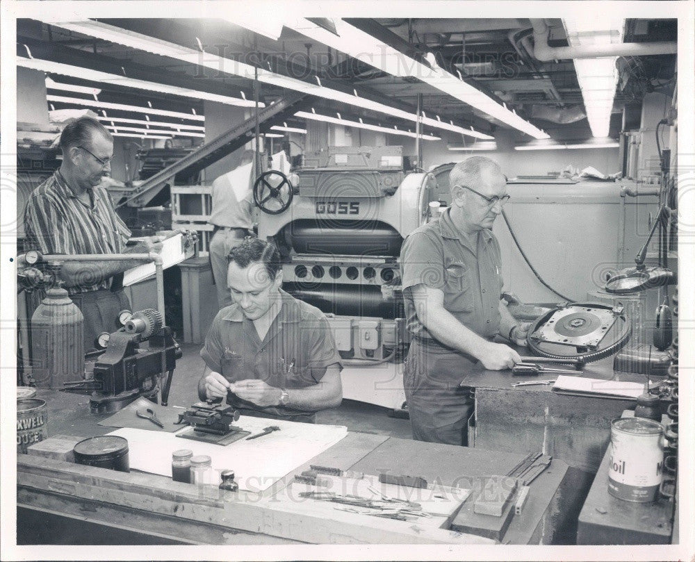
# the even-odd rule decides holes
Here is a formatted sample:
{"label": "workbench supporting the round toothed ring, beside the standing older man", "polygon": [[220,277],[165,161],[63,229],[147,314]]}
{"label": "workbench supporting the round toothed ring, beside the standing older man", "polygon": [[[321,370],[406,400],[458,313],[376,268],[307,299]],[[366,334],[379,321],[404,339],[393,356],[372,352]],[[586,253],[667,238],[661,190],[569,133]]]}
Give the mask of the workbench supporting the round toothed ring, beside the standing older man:
{"label": "workbench supporting the round toothed ring, beside the standing older man", "polygon": [[[515,349],[528,356],[528,349]],[[566,479],[571,482],[567,491],[569,526],[558,533],[564,536],[563,543],[574,543],[582,504],[610,443],[610,424],[624,410],[634,409],[635,400],[560,393],[552,390],[552,385],[512,386],[514,382],[557,376],[512,376],[509,370],[489,371],[478,363],[466,374],[461,386],[471,388],[475,397],[475,416],[468,428],[469,446],[523,454],[543,452],[553,456],[553,463],[567,463]],[[612,356],[587,363],[577,376],[638,383],[646,380],[642,374],[614,372]]]}

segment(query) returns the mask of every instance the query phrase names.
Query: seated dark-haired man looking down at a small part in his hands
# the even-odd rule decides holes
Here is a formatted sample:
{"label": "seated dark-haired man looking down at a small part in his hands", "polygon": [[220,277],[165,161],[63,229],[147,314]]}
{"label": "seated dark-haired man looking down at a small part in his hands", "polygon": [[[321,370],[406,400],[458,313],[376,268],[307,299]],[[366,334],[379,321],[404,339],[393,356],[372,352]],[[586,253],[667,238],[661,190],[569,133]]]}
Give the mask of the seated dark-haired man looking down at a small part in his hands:
{"label": "seated dark-haired man looking down at a small part in his hands", "polygon": [[321,311],[281,290],[271,242],[245,240],[229,252],[234,304],[213,320],[200,356],[201,399],[227,397],[242,414],[315,422],[341,404],[341,358]]}

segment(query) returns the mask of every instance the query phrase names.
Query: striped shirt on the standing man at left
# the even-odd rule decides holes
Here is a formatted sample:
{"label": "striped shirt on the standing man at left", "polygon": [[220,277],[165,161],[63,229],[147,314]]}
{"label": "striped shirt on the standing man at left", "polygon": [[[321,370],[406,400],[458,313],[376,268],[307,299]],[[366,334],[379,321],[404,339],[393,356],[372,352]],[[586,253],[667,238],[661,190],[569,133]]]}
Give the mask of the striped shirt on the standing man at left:
{"label": "striped shirt on the standing man at left", "polygon": [[[106,188],[97,185],[87,192],[91,207],[74,195],[60,170],[33,190],[24,209],[26,249],[68,255],[124,251],[131,231],[116,214]],[[96,284],[90,281],[85,279],[68,292],[74,295],[109,287],[108,279]]]}

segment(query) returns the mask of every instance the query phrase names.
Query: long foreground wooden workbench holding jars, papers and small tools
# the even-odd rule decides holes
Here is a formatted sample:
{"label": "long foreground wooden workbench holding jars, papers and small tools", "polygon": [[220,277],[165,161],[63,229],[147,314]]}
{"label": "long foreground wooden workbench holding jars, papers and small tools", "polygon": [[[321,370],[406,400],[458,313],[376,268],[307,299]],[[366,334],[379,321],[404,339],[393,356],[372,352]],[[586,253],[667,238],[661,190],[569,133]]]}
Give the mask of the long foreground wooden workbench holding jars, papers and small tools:
{"label": "long foreground wooden workbench holding jars, papers and small tools", "polygon": [[[95,436],[111,431],[97,425],[108,415],[89,412],[88,397],[39,390],[48,403],[49,436]],[[273,496],[309,464],[379,474],[391,470],[450,486],[461,477],[506,474],[525,455],[422,443],[370,433],[348,432],[263,493],[222,499],[213,486],[201,491],[156,474],[116,472],[50,458],[17,455],[18,544],[211,544],[404,543],[398,534],[356,534],[349,524],[298,516],[273,506]],[[567,465],[555,461],[535,479],[528,502],[501,543],[548,544],[566,524]],[[347,515],[347,514],[346,514]],[[352,514],[350,514],[352,515]],[[354,518],[354,515],[352,515]],[[368,517],[367,517],[368,518]],[[368,518],[375,519],[375,518]],[[354,527],[354,526],[353,526]],[[452,536],[452,543],[467,544]],[[475,543],[477,537],[471,537]],[[488,539],[489,540],[489,539]],[[412,542],[436,542],[426,537]]]}

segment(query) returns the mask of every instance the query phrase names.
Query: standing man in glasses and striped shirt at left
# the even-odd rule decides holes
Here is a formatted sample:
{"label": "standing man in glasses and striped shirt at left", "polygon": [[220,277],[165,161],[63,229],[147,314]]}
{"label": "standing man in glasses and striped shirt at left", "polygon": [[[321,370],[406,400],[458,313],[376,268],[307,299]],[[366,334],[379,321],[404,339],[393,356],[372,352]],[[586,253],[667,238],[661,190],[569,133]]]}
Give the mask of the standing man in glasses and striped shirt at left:
{"label": "standing man in glasses and striped shirt at left", "polygon": [[[42,254],[120,254],[161,249],[152,239],[126,250],[131,232],[115,213],[111,197],[99,186],[111,171],[113,138],[96,119],[80,117],[60,135],[63,163],[38,186],[24,210],[26,249]],[[144,246],[144,247],[143,247]],[[118,326],[117,315],[130,308],[122,273],[142,260],[66,262],[63,286],[85,318],[85,351],[102,331]]]}

